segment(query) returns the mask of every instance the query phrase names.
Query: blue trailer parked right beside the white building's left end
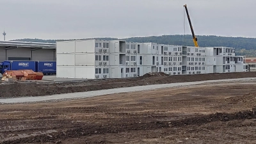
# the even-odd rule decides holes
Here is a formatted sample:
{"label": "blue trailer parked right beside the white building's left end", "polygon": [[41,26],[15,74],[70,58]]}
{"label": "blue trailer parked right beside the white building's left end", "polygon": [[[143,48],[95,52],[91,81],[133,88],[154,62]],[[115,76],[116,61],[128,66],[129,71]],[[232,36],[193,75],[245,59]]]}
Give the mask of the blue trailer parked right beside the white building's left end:
{"label": "blue trailer parked right beside the white building's left end", "polygon": [[56,73],[56,61],[36,61],[36,72]]}

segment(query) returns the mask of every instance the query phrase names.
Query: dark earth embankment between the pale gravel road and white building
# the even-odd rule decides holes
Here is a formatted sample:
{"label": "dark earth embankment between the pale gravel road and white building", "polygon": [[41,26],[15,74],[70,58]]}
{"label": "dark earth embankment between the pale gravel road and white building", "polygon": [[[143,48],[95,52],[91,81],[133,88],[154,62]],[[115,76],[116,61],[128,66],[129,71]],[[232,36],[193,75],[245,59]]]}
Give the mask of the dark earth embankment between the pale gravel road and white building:
{"label": "dark earth embankment between the pale gravel road and white building", "polygon": [[122,88],[130,86],[142,86],[148,84],[182,83],[191,81],[206,81],[215,79],[236,79],[243,77],[256,77],[256,72],[236,72],[225,74],[194,74],[166,76],[164,73],[159,76],[145,74],[142,77],[125,79],[100,79],[84,82],[65,83],[10,83],[0,84],[0,98],[3,97],[25,97],[54,95],[60,93],[86,92],[92,90],[106,90],[110,88]]}

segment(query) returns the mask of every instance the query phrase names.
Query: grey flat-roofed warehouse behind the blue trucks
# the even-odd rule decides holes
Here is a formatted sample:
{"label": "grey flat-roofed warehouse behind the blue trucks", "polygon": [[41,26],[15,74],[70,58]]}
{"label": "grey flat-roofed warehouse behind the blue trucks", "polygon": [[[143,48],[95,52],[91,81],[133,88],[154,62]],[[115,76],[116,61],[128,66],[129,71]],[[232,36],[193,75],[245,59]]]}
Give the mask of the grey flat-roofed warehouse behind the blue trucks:
{"label": "grey flat-roofed warehouse behind the blue trucks", "polygon": [[0,62],[4,60],[56,61],[56,44],[0,41]]}

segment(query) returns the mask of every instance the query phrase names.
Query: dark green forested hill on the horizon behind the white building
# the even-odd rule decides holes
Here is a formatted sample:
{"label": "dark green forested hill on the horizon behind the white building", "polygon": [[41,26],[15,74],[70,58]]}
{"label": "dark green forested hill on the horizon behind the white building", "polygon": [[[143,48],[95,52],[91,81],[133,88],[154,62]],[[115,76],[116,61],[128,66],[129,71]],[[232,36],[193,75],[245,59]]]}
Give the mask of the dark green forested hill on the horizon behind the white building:
{"label": "dark green forested hill on the horizon behind the white building", "polygon": [[[237,55],[256,57],[256,38],[244,37],[227,37],[214,35],[200,35],[197,36],[198,45],[200,47],[235,47]],[[86,40],[92,38],[84,38],[79,40]],[[118,40],[118,38],[96,38],[99,40]],[[127,42],[154,42],[157,44],[172,44],[172,45],[187,45],[193,46],[193,38],[191,35],[163,35],[163,36],[147,36],[147,37],[131,37],[124,38]],[[20,42],[43,42],[56,43],[61,40],[42,40],[38,38],[23,38],[13,41]]]}

